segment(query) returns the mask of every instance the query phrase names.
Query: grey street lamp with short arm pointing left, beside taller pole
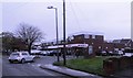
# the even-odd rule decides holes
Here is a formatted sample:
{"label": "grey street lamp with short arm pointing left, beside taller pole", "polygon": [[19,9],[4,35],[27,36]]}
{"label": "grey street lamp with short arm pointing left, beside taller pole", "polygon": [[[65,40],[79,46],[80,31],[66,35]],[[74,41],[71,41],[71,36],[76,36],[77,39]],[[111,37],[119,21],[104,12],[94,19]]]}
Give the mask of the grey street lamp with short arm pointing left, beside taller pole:
{"label": "grey street lamp with short arm pointing left, beside taller pole", "polygon": [[[57,45],[59,45],[59,35],[58,35],[58,8],[53,8],[52,5],[48,7],[48,9],[54,9],[55,10],[55,30],[57,30]],[[58,56],[58,62],[60,62],[59,59],[59,51],[57,53],[57,56]]]}

